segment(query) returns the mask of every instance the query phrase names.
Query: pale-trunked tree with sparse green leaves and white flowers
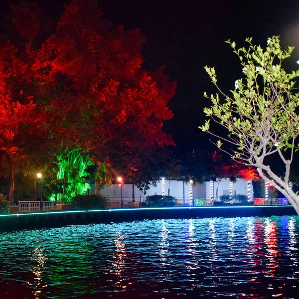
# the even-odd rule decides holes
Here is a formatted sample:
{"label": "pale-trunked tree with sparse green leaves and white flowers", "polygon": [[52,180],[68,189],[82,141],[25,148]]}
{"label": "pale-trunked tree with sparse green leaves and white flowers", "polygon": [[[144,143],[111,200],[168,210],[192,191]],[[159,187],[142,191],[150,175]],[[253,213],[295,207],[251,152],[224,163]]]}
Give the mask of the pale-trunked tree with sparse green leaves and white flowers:
{"label": "pale-trunked tree with sparse green leaves and white flowers", "polygon": [[[283,62],[291,56],[294,47],[282,50],[278,36],[267,40],[267,47],[253,45],[247,38],[248,47],[237,49],[235,42],[227,41],[241,61],[243,78],[236,80],[235,89],[226,95],[218,86],[215,69],[205,67],[218,93],[204,96],[212,101],[204,113],[228,130],[227,136],[210,131],[210,119],[202,131],[231,145],[226,151],[234,159],[257,167],[259,175],[282,192],[299,214],[299,195],[290,187],[290,169],[295,152],[299,148],[299,70],[288,73]],[[299,64],[299,61],[297,62]],[[240,72],[241,73],[241,72]],[[267,163],[268,156],[278,155],[285,165],[283,176]]]}

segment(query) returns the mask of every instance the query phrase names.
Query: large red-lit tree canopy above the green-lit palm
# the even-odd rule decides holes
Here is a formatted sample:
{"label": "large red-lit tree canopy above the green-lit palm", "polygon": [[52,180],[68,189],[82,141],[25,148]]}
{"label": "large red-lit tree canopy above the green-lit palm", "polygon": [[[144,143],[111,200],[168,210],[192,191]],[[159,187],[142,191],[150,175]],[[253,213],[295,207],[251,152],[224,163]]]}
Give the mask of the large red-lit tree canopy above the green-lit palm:
{"label": "large red-lit tree canopy above the green-lit palm", "polygon": [[0,97],[18,137],[2,153],[23,161],[35,153],[37,165],[46,162],[39,157],[79,147],[113,168],[145,149],[174,145],[162,125],[172,118],[167,104],[176,83],[162,68],[143,69],[139,29],[113,28],[93,0],[71,1],[56,28],[24,2],[12,6],[11,24],[14,33],[0,38]]}

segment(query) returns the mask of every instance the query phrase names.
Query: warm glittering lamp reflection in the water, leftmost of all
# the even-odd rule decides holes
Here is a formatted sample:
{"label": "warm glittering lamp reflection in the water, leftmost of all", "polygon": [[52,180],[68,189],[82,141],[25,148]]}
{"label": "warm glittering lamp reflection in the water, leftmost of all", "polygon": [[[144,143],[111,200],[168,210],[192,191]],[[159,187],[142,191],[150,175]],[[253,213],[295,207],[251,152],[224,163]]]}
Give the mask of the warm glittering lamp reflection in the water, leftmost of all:
{"label": "warm glittering lamp reflection in the water, leftmost of all", "polygon": [[34,291],[32,293],[35,296],[35,299],[38,299],[41,295],[41,288],[47,287],[46,285],[42,286],[42,268],[47,260],[46,256],[43,254],[43,249],[39,246],[34,248],[29,252],[29,256],[32,262],[37,263],[35,267],[31,269],[31,272],[34,274],[34,283],[28,282],[29,286],[34,286]]}

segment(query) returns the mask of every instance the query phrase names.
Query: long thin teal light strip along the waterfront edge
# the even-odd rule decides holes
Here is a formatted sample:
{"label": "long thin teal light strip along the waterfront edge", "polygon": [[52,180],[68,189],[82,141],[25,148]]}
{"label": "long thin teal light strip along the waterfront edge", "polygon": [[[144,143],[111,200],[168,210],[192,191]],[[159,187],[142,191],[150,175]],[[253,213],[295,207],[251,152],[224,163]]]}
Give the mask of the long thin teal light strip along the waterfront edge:
{"label": "long thin teal light strip along the waterfront edge", "polygon": [[49,214],[69,214],[69,213],[90,213],[90,212],[125,212],[125,211],[150,211],[150,210],[192,210],[192,209],[252,209],[252,208],[281,208],[292,207],[292,205],[273,205],[273,206],[227,206],[227,207],[214,207],[214,206],[201,206],[201,207],[169,207],[169,208],[123,208],[123,209],[106,209],[106,210],[71,210],[71,211],[57,211],[57,212],[35,212],[35,213],[17,213],[17,214],[5,214],[0,217],[19,217],[24,215],[49,215]]}

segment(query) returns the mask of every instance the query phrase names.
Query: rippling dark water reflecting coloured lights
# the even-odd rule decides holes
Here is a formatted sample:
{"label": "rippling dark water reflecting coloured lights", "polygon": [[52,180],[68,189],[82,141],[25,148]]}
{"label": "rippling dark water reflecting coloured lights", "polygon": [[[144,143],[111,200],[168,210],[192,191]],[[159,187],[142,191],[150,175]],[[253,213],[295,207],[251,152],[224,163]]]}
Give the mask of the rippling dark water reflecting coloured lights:
{"label": "rippling dark water reflecting coloured lights", "polygon": [[299,217],[0,233],[0,298],[299,298]]}

